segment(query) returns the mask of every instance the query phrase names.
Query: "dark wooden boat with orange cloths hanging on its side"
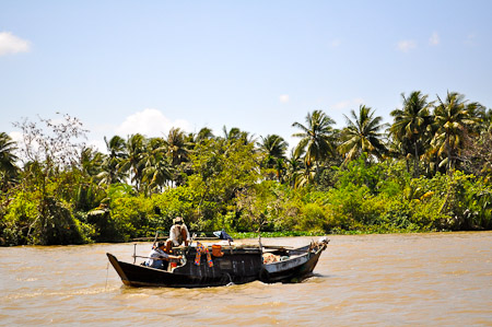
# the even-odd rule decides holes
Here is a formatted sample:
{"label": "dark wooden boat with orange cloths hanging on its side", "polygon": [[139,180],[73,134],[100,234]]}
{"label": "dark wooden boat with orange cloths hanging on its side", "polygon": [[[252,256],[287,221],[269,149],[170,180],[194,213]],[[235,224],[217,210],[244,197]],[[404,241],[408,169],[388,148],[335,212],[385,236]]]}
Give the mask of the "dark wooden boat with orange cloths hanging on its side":
{"label": "dark wooden boat with orange cloths hanging on its side", "polygon": [[[292,248],[263,246],[261,242],[257,245],[223,241],[203,245],[197,242],[187,247],[174,247],[173,254],[183,256],[183,259],[178,265],[167,265],[166,269],[148,267],[143,262],[136,264],[139,256],[134,253],[133,264],[120,261],[109,253],[106,255],[125,285],[208,288],[253,281],[302,281],[312,275],[328,243],[323,237],[308,245]],[[210,257],[206,255],[207,252]],[[197,253],[200,255],[197,256]]]}

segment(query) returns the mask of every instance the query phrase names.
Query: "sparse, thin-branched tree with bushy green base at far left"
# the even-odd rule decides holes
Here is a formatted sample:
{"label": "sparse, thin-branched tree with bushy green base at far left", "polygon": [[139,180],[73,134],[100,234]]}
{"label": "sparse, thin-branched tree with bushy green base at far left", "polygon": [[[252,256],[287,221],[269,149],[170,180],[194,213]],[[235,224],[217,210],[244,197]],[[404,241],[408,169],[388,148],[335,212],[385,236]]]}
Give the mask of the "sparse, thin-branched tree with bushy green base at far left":
{"label": "sparse, thin-branched tree with bushy green base at far left", "polygon": [[[73,170],[81,170],[80,157],[86,130],[74,117],[63,115],[60,122],[39,118],[45,126],[24,119],[15,122],[23,133],[21,160],[24,162],[23,180],[15,200],[19,214],[25,217],[25,238],[34,244],[74,244],[82,242],[82,232],[70,210],[67,195],[78,189]],[[74,183],[75,180],[75,183]],[[32,209],[27,210],[24,198]],[[26,213],[30,211],[28,213]],[[16,219],[16,218],[14,218]]]}

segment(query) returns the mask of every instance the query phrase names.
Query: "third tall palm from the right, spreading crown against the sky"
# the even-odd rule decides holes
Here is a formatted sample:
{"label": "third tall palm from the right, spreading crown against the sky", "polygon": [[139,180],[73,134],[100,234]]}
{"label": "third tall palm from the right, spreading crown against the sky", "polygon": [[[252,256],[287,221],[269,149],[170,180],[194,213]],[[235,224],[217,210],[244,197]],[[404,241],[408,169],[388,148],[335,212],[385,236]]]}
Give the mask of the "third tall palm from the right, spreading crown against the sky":
{"label": "third tall palm from the right, spreading crown against the sky", "polygon": [[359,114],[351,110],[351,115],[353,120],[345,116],[348,126],[342,130],[342,143],[338,147],[345,156],[344,163],[364,152],[382,159],[387,151],[382,140],[384,135],[379,132],[385,126],[380,124],[383,118],[374,117],[372,108],[364,105],[359,107]]}

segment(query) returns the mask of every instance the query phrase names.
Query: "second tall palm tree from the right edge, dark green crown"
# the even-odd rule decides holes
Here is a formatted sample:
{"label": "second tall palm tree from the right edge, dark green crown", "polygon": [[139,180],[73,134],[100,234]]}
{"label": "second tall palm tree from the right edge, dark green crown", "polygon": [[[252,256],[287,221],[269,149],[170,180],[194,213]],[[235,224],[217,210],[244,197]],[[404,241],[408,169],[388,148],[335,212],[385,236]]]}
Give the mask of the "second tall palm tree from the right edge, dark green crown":
{"label": "second tall palm tree from the right edge, dark green crown", "polygon": [[390,113],[395,120],[389,131],[400,144],[401,153],[406,157],[413,156],[413,174],[418,176],[419,159],[424,153],[427,141],[425,131],[431,124],[430,108],[432,103],[427,103],[427,95],[421,94],[420,91],[410,93],[408,97],[401,93],[401,97],[403,98],[403,107]]}

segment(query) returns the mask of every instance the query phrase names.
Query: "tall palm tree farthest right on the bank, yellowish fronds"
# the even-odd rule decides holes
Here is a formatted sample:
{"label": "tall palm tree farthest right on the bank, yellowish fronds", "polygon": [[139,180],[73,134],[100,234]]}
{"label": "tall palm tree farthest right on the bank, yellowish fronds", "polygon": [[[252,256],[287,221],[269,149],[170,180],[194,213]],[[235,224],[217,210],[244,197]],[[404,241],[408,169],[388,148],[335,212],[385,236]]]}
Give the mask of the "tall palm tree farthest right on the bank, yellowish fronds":
{"label": "tall palm tree farthest right on the bank, yellowish fronds", "polygon": [[446,164],[447,172],[455,167],[456,157],[459,154],[465,137],[473,130],[478,124],[477,110],[481,107],[478,103],[467,103],[465,96],[457,92],[447,92],[443,102],[437,96],[437,106],[434,110],[435,135],[431,141],[433,152],[446,157],[440,166]]}

